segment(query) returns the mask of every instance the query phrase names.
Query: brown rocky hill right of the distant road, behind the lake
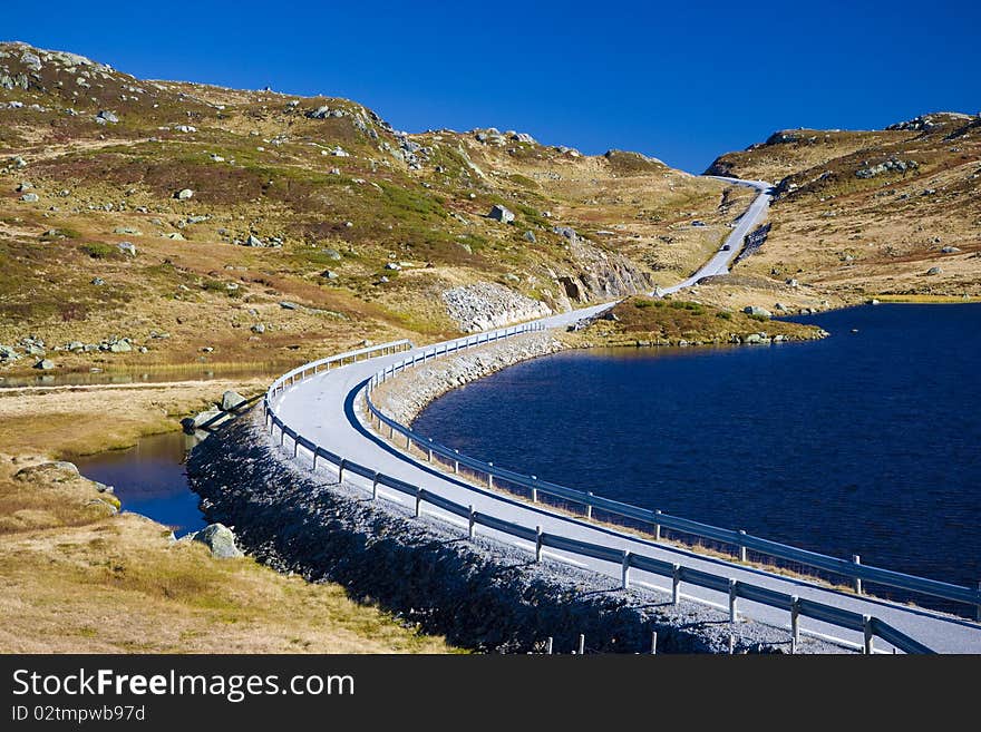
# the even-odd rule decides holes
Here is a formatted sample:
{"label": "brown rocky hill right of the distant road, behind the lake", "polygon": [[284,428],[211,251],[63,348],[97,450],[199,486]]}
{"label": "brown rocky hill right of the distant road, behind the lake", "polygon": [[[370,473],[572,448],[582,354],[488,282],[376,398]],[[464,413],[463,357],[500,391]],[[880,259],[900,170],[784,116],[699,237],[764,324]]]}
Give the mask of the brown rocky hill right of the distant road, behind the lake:
{"label": "brown rocky hill right of the distant road, behind the lake", "polygon": [[777,184],[773,230],[735,271],[855,300],[981,295],[981,117],[883,130],[794,129],[709,173]]}

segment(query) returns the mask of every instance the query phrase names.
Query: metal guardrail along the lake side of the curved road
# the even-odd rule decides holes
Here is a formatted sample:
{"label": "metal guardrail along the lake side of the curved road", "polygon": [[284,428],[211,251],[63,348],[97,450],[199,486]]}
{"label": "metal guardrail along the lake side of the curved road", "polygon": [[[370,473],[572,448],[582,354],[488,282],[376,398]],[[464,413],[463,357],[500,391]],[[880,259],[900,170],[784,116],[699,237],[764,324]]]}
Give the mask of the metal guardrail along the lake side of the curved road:
{"label": "metal guardrail along the lake side of the curved road", "polygon": [[485,462],[466,455],[460,455],[453,448],[434,442],[431,438],[419,435],[410,428],[391,419],[371,401],[371,390],[378,384],[383,383],[406,368],[424,362],[430,357],[436,358],[436,355],[448,352],[445,349],[434,350],[436,352],[424,352],[421,357],[416,357],[414,360],[400,361],[379,371],[368,382],[365,394],[369,413],[378,420],[379,427],[385,426],[389,429],[389,438],[392,439],[396,433],[401,435],[406,438],[407,449],[415,442],[422,450],[427,451],[430,462],[433,461],[433,456],[439,456],[453,463],[454,472],[459,472],[459,468],[464,467],[474,472],[486,475],[490,487],[494,486],[494,479],[497,478],[509,485],[524,488],[528,491],[533,502],[538,500],[538,495],[546,495],[582,505],[586,509],[586,518],[590,519],[592,518],[593,509],[598,509],[614,516],[621,516],[623,518],[630,518],[648,524],[654,529],[653,534],[655,540],[661,538],[661,529],[671,529],[681,534],[737,547],[738,558],[741,562],[746,562],[747,552],[751,550],[764,556],[794,562],[799,565],[847,577],[852,580],[853,587],[858,594],[863,593],[862,583],[870,582],[877,585],[896,587],[912,593],[932,595],[943,599],[973,605],[977,608],[977,619],[981,619],[981,585],[979,585],[978,589],[973,589],[971,587],[953,585],[936,579],[929,579],[926,577],[907,575],[892,569],[861,564],[857,555],[848,562],[846,559],[839,559],[817,552],[809,552],[787,544],[780,544],[779,541],[752,536],[746,531],[721,528],[681,518],[679,516],[662,514],[659,510],[640,508],[639,506],[632,506],[630,504],[596,496],[592,491],[567,488],[554,482],[548,482],[547,480],[541,480],[536,476],[527,476],[521,472],[515,472],[514,470],[501,468],[493,462]]}

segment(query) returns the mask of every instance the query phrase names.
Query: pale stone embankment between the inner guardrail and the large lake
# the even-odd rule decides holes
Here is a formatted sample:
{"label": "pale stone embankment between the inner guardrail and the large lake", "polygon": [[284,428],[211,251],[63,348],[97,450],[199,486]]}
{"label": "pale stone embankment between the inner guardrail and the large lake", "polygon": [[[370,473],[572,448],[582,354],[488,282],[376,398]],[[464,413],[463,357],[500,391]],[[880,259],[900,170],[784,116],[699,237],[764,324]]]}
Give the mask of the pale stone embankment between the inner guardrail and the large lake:
{"label": "pale stone embankment between the inner guardrail and the large lake", "polygon": [[407,369],[371,392],[375,406],[409,424],[434,399],[509,365],[567,348],[552,333],[527,333]]}

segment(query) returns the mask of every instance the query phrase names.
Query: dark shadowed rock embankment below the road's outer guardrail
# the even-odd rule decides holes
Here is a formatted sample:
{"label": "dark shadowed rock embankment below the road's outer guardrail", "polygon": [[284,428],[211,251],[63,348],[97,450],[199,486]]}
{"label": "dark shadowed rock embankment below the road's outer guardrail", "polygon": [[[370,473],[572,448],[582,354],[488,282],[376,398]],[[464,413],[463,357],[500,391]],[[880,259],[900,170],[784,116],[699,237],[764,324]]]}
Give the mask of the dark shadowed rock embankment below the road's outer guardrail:
{"label": "dark shadowed rock embankment below the road's outer guardrail", "polygon": [[[589,652],[725,653],[725,613],[631,588],[590,572],[531,562],[526,552],[385,500],[366,500],[286,459],[256,419],[243,418],[198,445],[187,462],[210,520],[235,527],[239,545],[261,562],[311,582],[344,585],[421,631],[488,652],[569,653],[585,635]],[[752,622],[736,628],[737,652],[783,652],[787,633]],[[834,652],[807,641],[803,652]]]}

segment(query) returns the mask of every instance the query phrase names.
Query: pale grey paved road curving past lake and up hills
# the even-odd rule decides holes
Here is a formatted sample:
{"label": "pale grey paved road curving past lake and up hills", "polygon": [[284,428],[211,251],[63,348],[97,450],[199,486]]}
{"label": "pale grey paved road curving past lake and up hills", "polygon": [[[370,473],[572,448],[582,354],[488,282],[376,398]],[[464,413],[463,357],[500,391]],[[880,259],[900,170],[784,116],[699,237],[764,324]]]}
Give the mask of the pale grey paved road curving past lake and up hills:
{"label": "pale grey paved road curving past lake and up hills", "polygon": [[[760,195],[757,196],[748,212],[744,214],[739,225],[729,235],[728,241],[732,244],[732,248],[728,252],[720,251],[683,283],[661,292],[676,292],[687,286],[686,283],[692,284],[700,277],[728,271],[727,267],[730,258],[736,256],[741,247],[742,236],[756,225],[765,214],[769,203],[769,195],[766,193],[769,188],[768,184],[763,182],[735,183],[750,185],[759,189]],[[582,318],[602,312],[610,308],[611,304],[604,303],[570,313],[561,313],[543,319],[542,322],[548,328],[562,328]],[[427,348],[431,348],[431,345]],[[963,618],[897,605],[886,601],[858,597],[848,593],[820,587],[804,579],[770,574],[760,569],[695,554],[683,548],[654,544],[653,541],[620,534],[615,530],[586,523],[585,520],[552,513],[541,507],[541,505],[526,504],[505,494],[476,487],[458,480],[451,474],[435,470],[429,465],[418,461],[415,457],[402,453],[362,423],[359,416],[358,400],[366,381],[377,371],[407,355],[421,351],[422,349],[415,349],[414,351],[376,358],[321,372],[305,381],[289,387],[273,400],[272,407],[279,417],[291,428],[298,430],[321,447],[349,460],[371,466],[376,470],[391,477],[438,492],[456,502],[470,504],[478,511],[493,514],[528,527],[541,526],[546,533],[562,534],[586,541],[602,543],[608,546],[619,546],[623,549],[642,553],[667,562],[678,563],[713,574],[723,574],[735,579],[771,587],[779,592],[796,594],[802,598],[806,597],[857,613],[873,615],[939,652],[981,653],[981,626]],[[312,461],[312,456],[301,449],[300,459],[309,465]],[[318,470],[323,471],[326,475],[336,476],[336,469],[332,466],[326,467],[324,463],[326,461],[321,460]],[[366,491],[371,489],[369,480],[351,474],[346,476],[346,482],[361,487]],[[410,499],[406,496],[395,494],[385,488],[379,492],[382,498],[401,502],[409,507]],[[602,495],[602,486],[596,486],[594,492]],[[460,526],[462,530],[466,531],[466,524],[459,518],[447,515],[431,506],[425,507],[424,510],[427,515]],[[517,544],[530,552],[534,552],[533,545],[515,537],[501,535],[488,529],[482,529],[482,534],[493,536],[508,544]],[[595,570],[602,575],[615,578],[619,583],[621,572],[619,563],[614,565],[581,556],[569,556],[551,549],[545,550],[544,555],[553,560],[565,562],[574,566]],[[631,584],[633,586],[647,586],[663,591],[670,596],[670,580],[663,577],[633,569],[631,573]],[[718,592],[682,586],[682,596],[728,609],[727,596]],[[773,607],[744,599],[739,602],[739,612],[741,616],[751,617],[778,627],[789,627],[788,613]],[[861,648],[863,641],[859,633],[845,631],[812,619],[802,621],[802,633],[804,635],[809,634],[841,641],[853,648]],[[877,650],[890,650],[890,646],[884,642],[877,640],[876,643]]]}

